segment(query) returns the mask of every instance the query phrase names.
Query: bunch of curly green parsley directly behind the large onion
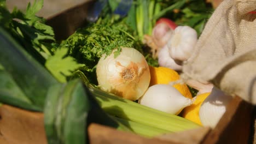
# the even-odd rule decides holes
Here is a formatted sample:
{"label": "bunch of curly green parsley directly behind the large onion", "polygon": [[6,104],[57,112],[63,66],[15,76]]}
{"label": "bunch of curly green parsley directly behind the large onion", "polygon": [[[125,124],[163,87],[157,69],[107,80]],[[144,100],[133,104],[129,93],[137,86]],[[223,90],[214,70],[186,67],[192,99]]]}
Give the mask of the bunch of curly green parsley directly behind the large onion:
{"label": "bunch of curly green parsley directly behind the large onion", "polygon": [[116,57],[121,47],[134,47],[143,53],[142,44],[136,32],[126,25],[125,19],[117,19],[110,15],[78,29],[63,41],[60,47],[67,47],[68,55],[77,59],[78,63],[85,65],[79,69],[94,84],[97,84],[96,65],[103,54],[110,55],[113,50],[117,50],[114,53]]}

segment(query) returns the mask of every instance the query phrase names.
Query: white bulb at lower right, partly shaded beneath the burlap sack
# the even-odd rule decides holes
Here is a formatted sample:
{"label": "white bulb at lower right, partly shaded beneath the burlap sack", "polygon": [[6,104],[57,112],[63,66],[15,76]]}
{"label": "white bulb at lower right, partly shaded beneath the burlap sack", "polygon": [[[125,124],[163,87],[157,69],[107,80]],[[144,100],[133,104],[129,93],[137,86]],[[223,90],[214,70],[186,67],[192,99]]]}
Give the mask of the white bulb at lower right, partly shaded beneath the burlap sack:
{"label": "white bulb at lower right, partly shaded beneath the burlap sack", "polygon": [[211,128],[216,127],[231,100],[230,95],[226,95],[220,89],[213,87],[211,94],[203,101],[199,110],[202,125]]}

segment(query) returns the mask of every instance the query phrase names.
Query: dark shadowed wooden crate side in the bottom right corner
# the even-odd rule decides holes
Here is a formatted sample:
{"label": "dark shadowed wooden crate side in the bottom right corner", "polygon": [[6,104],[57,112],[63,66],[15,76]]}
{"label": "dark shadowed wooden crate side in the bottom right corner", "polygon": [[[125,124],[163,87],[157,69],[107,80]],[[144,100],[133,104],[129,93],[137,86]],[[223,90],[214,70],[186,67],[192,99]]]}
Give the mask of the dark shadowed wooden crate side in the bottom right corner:
{"label": "dark shadowed wooden crate side in the bottom right corner", "polygon": [[227,107],[219,123],[202,141],[208,143],[251,143],[253,106],[235,97]]}

